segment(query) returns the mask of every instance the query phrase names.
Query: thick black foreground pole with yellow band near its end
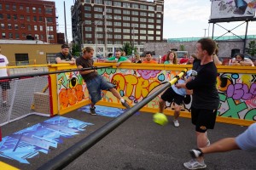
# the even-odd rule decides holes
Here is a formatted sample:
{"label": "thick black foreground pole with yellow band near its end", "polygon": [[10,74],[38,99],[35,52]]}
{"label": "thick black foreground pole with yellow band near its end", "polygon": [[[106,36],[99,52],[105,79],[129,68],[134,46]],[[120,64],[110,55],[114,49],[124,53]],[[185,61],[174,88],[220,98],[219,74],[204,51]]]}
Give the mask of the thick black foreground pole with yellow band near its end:
{"label": "thick black foreground pole with yellow band near its end", "polygon": [[77,157],[82,155],[84,151],[89,150],[91,146],[96,144],[98,141],[103,139],[107,136],[108,133],[111,133],[113,129],[119,127],[120,124],[125,122],[129,117],[134,115],[137,111],[143,108],[144,105],[147,105],[149,101],[154,99],[160,93],[166,90],[166,88],[170,87],[172,84],[177,82],[177,80],[183,76],[183,74],[187,71],[185,69],[179,75],[174,77],[169,83],[165,83],[163,87],[159,90],[155,91],[153,94],[149,95],[147,98],[143,99],[137,105],[134,105],[128,111],[125,111],[122,115],[113,119],[113,121],[108,122],[107,124],[103,125],[99,129],[97,129],[94,133],[91,133],[89,136],[85,137],[84,139],[80,140],[77,144],[73,144],[67,150],[64,150],[58,156],[55,156],[53,159],[49,160],[47,163],[38,167],[38,170],[55,170],[55,169],[62,169],[67,167],[73,160]]}

